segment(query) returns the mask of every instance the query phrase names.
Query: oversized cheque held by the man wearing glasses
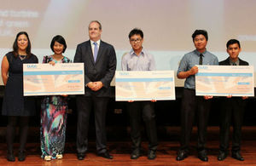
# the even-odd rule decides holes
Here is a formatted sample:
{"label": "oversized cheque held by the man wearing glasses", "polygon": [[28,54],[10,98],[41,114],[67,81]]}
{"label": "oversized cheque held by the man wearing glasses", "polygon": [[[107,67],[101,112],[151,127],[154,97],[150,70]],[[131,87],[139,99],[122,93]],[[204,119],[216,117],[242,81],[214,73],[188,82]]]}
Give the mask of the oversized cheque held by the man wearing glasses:
{"label": "oversized cheque held by the man wearing glasses", "polygon": [[175,100],[174,72],[117,71],[115,100]]}

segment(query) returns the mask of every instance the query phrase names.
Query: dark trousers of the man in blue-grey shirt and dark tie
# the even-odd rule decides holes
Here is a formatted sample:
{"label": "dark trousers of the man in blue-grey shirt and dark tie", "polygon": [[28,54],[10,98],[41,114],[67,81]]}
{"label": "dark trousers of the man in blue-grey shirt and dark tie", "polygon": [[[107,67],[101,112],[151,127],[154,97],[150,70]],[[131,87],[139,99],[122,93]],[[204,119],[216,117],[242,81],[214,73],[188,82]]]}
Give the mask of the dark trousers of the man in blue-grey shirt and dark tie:
{"label": "dark trousers of the man in blue-grey shirt and dark tie", "polygon": [[195,96],[195,90],[183,90],[180,150],[189,151],[189,141],[193,129],[194,118],[196,116],[198,129],[198,152],[206,152],[207,122],[210,106],[211,100],[205,100],[202,96]]}

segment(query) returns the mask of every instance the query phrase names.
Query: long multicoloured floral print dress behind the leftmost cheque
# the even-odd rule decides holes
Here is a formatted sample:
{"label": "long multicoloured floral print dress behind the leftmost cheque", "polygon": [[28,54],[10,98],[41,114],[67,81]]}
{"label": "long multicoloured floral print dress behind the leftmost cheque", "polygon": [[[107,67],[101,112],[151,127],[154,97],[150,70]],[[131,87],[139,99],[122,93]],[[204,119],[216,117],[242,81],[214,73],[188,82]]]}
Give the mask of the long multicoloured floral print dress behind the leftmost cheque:
{"label": "long multicoloured floral print dress behind the leftmost cheque", "polygon": [[[44,56],[43,63],[69,63],[67,57],[56,61],[53,56]],[[62,155],[64,152],[67,123],[67,97],[61,95],[44,96],[41,102],[41,151],[42,156]]]}

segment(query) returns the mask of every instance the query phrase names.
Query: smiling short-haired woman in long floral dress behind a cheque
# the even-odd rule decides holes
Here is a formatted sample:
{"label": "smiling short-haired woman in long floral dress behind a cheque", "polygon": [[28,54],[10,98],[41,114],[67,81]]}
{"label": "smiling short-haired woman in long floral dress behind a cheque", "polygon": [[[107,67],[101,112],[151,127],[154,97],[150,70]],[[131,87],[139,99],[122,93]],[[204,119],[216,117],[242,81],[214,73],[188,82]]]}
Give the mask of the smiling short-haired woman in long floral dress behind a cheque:
{"label": "smiling short-haired woman in long floral dress behind a cheque", "polygon": [[[55,36],[50,48],[54,54],[44,56],[43,63],[54,66],[55,63],[69,63],[62,54],[67,48],[65,39],[60,35]],[[61,159],[64,146],[67,123],[67,95],[45,96],[41,103],[41,150],[42,158],[46,161]]]}

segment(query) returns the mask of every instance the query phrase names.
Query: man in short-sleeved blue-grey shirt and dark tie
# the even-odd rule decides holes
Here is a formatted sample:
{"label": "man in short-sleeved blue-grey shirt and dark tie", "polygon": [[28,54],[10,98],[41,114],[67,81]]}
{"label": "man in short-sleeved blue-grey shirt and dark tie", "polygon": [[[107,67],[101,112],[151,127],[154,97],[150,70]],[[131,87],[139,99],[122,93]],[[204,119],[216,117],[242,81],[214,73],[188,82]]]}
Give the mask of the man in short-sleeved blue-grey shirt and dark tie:
{"label": "man in short-sleeved blue-grey shirt and dark tie", "polygon": [[205,30],[196,30],[193,35],[195,50],[184,54],[181,60],[177,77],[186,78],[183,89],[181,107],[181,147],[177,152],[177,161],[183,160],[189,154],[189,140],[193,128],[195,115],[198,127],[198,157],[207,162],[206,135],[207,120],[210,111],[212,96],[195,96],[195,74],[198,72],[196,65],[218,65],[218,58],[207,51],[208,35]]}

